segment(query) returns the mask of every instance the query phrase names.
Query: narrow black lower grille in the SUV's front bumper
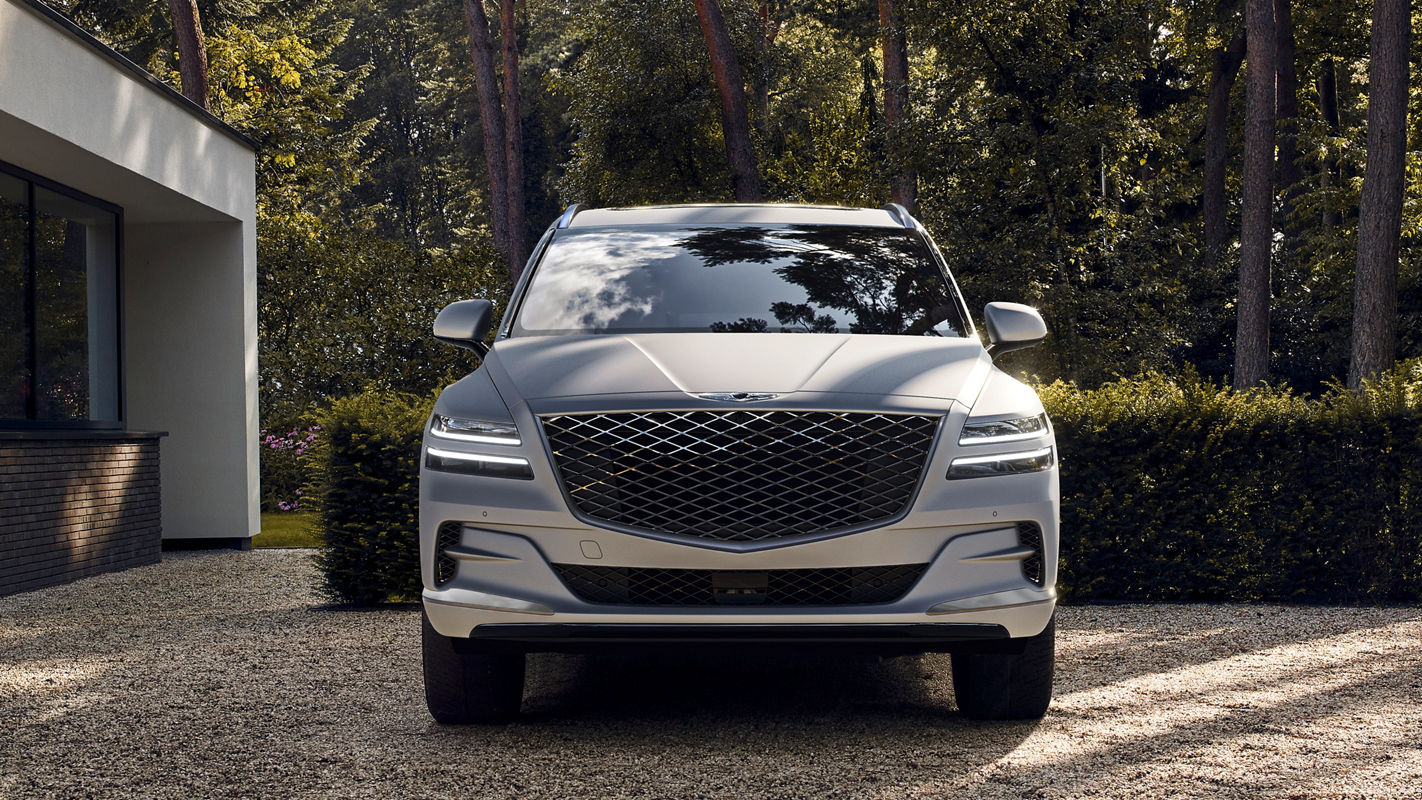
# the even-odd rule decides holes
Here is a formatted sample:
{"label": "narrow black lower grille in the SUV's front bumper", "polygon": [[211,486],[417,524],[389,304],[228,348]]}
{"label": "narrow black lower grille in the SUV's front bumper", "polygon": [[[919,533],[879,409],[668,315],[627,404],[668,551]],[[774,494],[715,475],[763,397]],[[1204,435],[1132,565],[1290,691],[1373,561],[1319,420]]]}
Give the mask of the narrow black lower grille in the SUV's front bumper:
{"label": "narrow black lower grille in the SUV's front bumper", "polygon": [[553,564],[574,595],[619,605],[872,605],[909,593],[927,564],[820,570],[660,570]]}

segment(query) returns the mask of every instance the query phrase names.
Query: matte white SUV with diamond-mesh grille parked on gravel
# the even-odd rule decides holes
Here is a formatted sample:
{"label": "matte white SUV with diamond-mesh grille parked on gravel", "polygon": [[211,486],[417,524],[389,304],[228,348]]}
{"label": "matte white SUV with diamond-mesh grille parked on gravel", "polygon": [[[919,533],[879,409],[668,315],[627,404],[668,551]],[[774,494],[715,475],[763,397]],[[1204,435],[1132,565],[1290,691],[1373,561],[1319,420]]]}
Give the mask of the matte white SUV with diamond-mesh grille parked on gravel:
{"label": "matte white SUV with diamond-mesh grille parked on gravel", "polygon": [[1047,712],[1057,448],[993,365],[1047,328],[993,303],[984,348],[902,207],[573,206],[491,317],[434,324],[483,358],[424,438],[437,720],[630,644],[951,652],[967,715]]}

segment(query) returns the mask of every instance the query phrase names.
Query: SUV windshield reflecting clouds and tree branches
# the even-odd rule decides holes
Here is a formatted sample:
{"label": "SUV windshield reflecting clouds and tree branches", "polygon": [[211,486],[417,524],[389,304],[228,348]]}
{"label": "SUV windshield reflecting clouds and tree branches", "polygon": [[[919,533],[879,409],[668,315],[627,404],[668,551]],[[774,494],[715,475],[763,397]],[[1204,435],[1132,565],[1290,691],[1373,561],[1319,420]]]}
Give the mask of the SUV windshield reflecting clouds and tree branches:
{"label": "SUV windshield reflecting clouds and tree branches", "polygon": [[560,230],[515,333],[840,333],[961,337],[910,230],[839,225]]}

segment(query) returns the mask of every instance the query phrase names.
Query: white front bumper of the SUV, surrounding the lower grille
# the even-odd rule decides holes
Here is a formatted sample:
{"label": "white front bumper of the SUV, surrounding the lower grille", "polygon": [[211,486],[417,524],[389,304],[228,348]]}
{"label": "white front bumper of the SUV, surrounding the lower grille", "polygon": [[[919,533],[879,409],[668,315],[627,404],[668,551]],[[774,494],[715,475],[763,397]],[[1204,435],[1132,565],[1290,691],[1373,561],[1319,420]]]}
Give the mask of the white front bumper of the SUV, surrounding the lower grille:
{"label": "white front bumper of the SUV, surrounding the lower grille", "polygon": [[[882,399],[882,398],[879,398]],[[603,401],[606,402],[606,401]],[[512,409],[538,431],[528,406]],[[900,411],[924,411],[903,408]],[[954,405],[941,429],[958,431]],[[1022,639],[1055,608],[1058,470],[943,480],[960,448],[936,446],[907,513],[884,527],[798,540],[688,541],[589,524],[569,512],[559,477],[529,438],[532,480],[421,470],[424,605],[447,637],[563,649],[587,642],[835,641],[919,651]],[[501,450],[502,452],[502,450]],[[510,450],[512,452],[512,450]],[[974,450],[975,452],[975,450]],[[437,577],[437,531],[461,521],[458,567]],[[1024,575],[1017,523],[1041,529],[1041,585]],[[926,566],[892,602],[860,605],[633,605],[590,602],[555,566],[769,571]]]}

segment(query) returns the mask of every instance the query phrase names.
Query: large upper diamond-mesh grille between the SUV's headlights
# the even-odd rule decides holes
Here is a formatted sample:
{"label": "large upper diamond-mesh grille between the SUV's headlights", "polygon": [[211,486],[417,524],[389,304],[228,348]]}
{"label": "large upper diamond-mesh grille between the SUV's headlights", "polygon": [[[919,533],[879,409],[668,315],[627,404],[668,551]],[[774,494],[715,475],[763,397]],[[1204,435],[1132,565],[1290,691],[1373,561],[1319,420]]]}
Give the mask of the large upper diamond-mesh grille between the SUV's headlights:
{"label": "large upper diamond-mesh grille between the SUV's headlights", "polygon": [[542,418],[589,519],[761,541],[887,521],[913,499],[936,416],[653,411]]}

